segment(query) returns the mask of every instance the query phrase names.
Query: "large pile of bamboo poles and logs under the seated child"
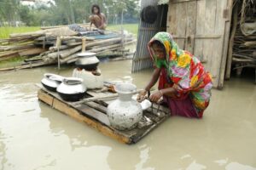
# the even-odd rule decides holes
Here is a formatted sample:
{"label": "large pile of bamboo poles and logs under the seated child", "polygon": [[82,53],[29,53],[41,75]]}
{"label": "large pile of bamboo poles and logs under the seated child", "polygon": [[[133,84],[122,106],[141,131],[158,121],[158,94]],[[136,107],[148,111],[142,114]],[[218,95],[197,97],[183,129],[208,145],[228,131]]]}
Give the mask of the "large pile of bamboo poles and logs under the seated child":
{"label": "large pile of bamboo poles and logs under the seated child", "polygon": [[[89,30],[88,26],[84,28]],[[121,50],[125,45],[136,41],[132,34],[124,34],[122,31],[104,31],[103,34],[106,36],[111,34],[112,37],[96,39],[79,36],[79,32],[72,31],[67,26],[11,34],[7,39],[0,39],[0,61],[16,56],[27,57],[20,68],[55,63],[70,64],[78,59],[77,54],[81,53],[82,46],[86,52],[102,54]],[[7,68],[7,70],[12,69]]]}

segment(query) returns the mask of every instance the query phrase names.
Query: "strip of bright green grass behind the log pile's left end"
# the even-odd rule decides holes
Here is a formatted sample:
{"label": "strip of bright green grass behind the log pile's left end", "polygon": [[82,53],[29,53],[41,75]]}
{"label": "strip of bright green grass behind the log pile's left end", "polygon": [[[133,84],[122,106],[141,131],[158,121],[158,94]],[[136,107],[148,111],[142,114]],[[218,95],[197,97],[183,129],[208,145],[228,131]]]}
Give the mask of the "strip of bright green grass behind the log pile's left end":
{"label": "strip of bright green grass behind the log pile's left end", "polygon": [[39,26],[22,26],[22,27],[0,27],[0,39],[8,38],[9,34],[12,33],[24,33],[30,31],[38,31],[40,30]]}

